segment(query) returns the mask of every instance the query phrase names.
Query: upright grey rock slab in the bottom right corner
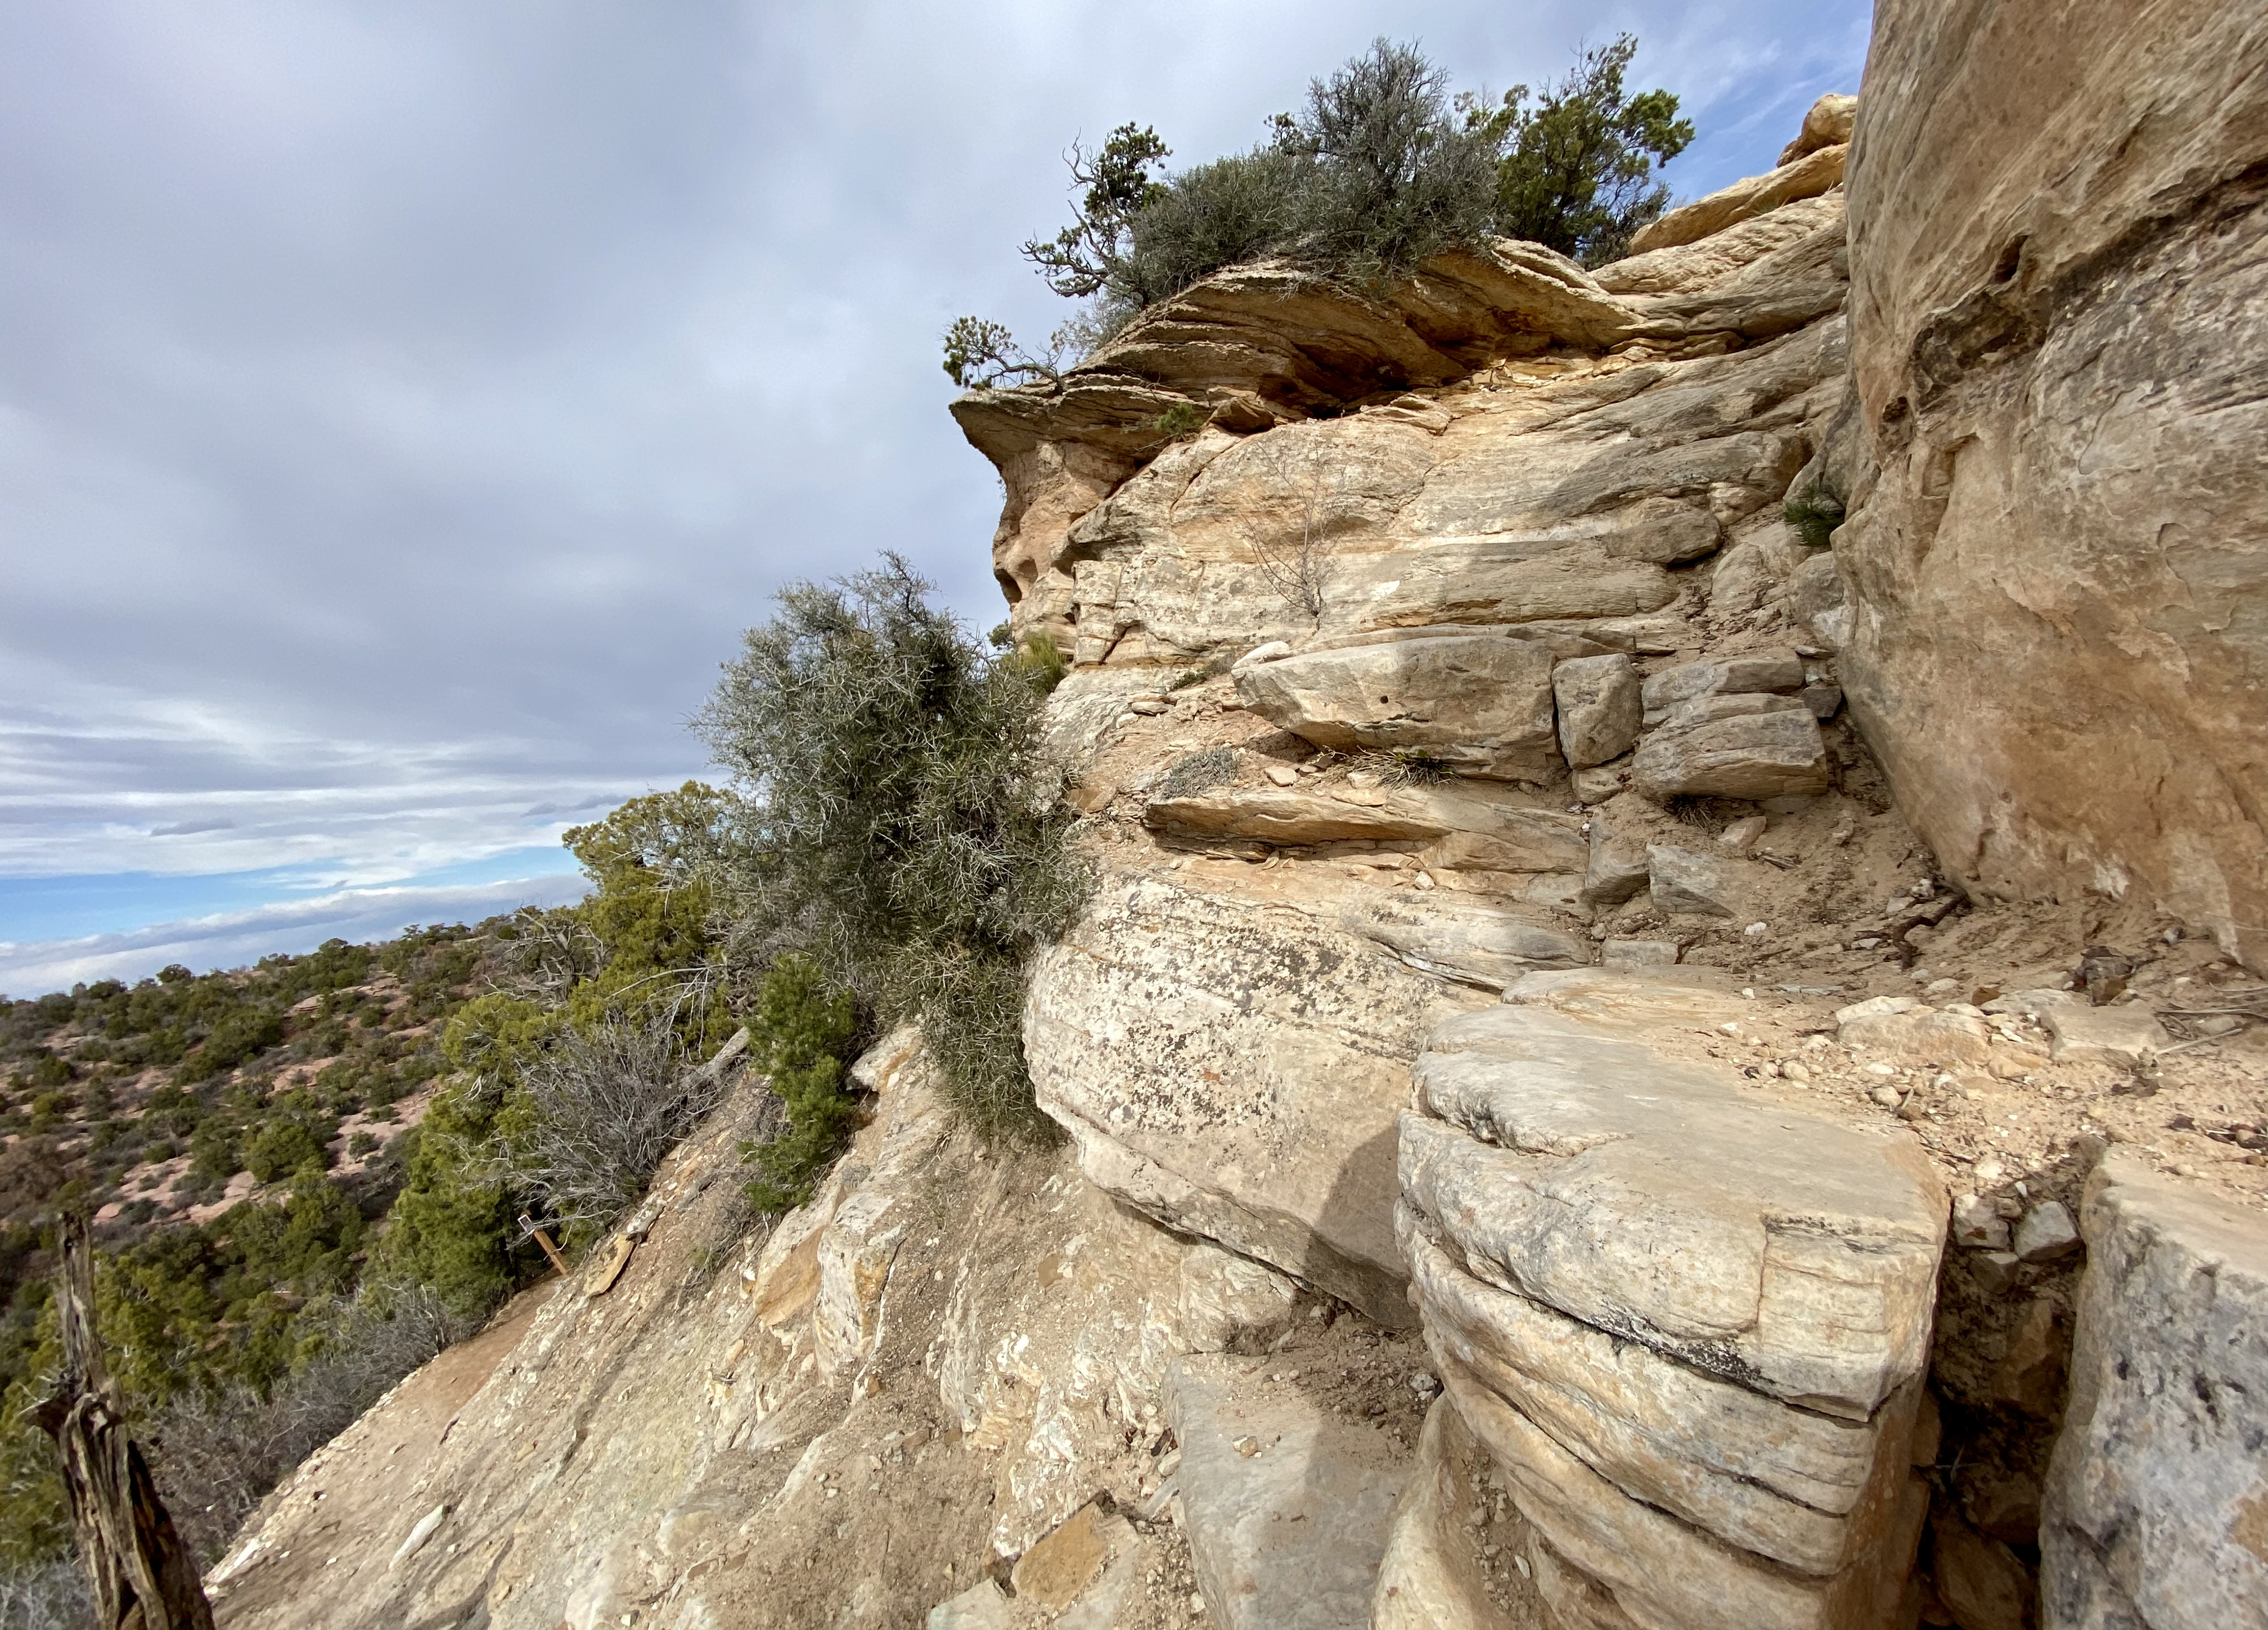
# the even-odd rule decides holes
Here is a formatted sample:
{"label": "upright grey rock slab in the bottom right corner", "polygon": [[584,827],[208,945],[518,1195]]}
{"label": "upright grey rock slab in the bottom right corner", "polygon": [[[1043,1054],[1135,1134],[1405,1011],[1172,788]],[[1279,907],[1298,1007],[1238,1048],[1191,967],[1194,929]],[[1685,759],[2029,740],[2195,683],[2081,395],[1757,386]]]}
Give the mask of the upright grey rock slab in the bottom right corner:
{"label": "upright grey rock slab in the bottom right corner", "polygon": [[2050,1630],[2268,1625],[2268,1220],[2112,1149],[2080,1208]]}

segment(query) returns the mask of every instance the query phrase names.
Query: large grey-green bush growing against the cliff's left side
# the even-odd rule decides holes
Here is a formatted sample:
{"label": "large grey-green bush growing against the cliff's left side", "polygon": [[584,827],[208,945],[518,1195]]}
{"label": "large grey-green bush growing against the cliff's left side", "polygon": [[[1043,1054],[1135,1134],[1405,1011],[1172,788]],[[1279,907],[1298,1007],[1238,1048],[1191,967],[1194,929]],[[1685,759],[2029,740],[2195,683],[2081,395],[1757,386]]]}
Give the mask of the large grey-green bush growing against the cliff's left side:
{"label": "large grey-green bush growing against the cliff's left side", "polygon": [[753,961],[789,950],[885,1022],[919,1018],[978,1127],[1036,1124],[1023,968],[1086,871],[1039,744],[1041,687],[898,555],[780,592],[696,728],[742,793],[719,875]]}

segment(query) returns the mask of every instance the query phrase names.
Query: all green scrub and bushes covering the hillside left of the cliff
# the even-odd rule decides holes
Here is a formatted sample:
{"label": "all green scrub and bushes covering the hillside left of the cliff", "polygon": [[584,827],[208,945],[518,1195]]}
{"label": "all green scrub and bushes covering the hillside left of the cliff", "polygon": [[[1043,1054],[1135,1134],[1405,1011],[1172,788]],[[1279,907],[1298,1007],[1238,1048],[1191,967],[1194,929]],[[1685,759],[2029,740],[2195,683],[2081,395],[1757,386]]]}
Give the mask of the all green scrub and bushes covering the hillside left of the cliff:
{"label": "all green scrub and bushes covering the hillside left of the cliff", "polygon": [[[590,895],[479,927],[0,1002],[0,1614],[70,1623],[27,1406],[59,1360],[54,1222],[98,1217],[134,1431],[204,1562],[308,1451],[646,1192],[723,1095],[771,1086],[751,1215],[810,1197],[848,1061],[919,1020],[946,1097],[1034,1129],[1032,952],[1084,893],[1039,750],[1064,653],[984,648],[903,560],[796,585],[701,719],[687,782],[565,834]],[[9,1623],[0,1619],[0,1625]]]}

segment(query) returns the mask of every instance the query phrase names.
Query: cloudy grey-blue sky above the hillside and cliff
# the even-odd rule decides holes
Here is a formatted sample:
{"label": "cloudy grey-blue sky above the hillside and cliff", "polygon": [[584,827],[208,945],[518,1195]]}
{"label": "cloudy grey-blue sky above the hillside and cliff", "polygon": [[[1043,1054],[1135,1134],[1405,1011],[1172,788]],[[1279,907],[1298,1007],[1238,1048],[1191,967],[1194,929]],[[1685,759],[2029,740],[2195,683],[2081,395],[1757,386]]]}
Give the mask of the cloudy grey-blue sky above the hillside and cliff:
{"label": "cloudy grey-blue sky above the hillside and cliff", "polygon": [[1622,29],[1699,195],[1867,9],[0,0],[0,991],[569,898],[780,583],[1000,617],[937,333],[1061,320],[1066,141]]}

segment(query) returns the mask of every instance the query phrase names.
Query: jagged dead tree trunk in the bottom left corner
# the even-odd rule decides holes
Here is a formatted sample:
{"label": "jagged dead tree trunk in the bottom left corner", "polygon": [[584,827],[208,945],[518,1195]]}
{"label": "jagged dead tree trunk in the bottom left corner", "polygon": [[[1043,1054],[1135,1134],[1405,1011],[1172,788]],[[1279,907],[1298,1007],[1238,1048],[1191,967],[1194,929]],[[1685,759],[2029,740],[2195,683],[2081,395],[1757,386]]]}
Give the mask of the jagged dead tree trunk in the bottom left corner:
{"label": "jagged dead tree trunk in the bottom left corner", "polygon": [[64,1374],[32,1417],[64,1453],[64,1489],[102,1630],[213,1630],[197,1564],[156,1496],[150,1462],[127,1437],[118,1387],[95,1335],[95,1251],[84,1217],[64,1220],[54,1276]]}

